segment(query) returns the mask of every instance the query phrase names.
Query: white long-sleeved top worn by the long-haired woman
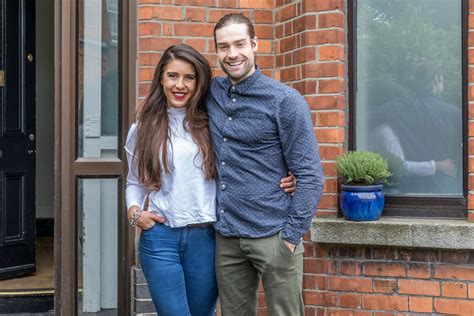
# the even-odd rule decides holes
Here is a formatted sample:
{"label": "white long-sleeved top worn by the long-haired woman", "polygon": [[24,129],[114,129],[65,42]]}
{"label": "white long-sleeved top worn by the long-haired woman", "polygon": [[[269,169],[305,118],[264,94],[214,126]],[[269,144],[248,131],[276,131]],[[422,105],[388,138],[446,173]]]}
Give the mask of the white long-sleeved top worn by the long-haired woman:
{"label": "white long-sleeved top worn by the long-haired woman", "polygon": [[171,141],[168,161],[171,174],[161,171],[159,191],[148,191],[138,181],[138,168],[133,156],[137,124],[130,127],[125,144],[129,170],[127,209],[132,205],[143,209],[146,195],[150,193],[148,210],[165,217],[165,225],[170,227],[216,221],[216,183],[205,179],[201,168],[202,155],[191,134],[183,127],[185,116],[185,108],[168,109]]}

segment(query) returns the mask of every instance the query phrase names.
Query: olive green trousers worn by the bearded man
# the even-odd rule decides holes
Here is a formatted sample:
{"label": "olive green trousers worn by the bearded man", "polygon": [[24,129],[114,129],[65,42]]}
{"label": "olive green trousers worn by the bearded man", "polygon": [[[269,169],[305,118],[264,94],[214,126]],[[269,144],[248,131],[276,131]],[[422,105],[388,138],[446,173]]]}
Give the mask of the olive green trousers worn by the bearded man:
{"label": "olive green trousers worn by the bearded man", "polygon": [[267,238],[216,233],[216,276],[222,316],[257,315],[262,280],[269,316],[304,316],[303,243],[294,252],[281,233]]}

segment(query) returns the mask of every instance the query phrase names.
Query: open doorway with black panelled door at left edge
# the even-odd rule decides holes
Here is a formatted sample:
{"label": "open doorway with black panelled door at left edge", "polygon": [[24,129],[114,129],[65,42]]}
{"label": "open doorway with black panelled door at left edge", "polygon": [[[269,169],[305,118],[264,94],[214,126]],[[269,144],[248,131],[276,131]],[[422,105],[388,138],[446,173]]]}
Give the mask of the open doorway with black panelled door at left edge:
{"label": "open doorway with black panelled door at left edge", "polygon": [[54,0],[0,1],[0,311],[54,306]]}

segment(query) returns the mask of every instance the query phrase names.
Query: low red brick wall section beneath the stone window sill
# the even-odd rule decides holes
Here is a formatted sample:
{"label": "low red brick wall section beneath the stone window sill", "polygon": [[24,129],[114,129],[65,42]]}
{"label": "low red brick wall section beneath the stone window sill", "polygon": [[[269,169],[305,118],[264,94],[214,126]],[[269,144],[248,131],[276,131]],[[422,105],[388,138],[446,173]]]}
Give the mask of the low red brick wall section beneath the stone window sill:
{"label": "low red brick wall section beneath the stone window sill", "polygon": [[474,314],[474,251],[306,246],[307,316]]}

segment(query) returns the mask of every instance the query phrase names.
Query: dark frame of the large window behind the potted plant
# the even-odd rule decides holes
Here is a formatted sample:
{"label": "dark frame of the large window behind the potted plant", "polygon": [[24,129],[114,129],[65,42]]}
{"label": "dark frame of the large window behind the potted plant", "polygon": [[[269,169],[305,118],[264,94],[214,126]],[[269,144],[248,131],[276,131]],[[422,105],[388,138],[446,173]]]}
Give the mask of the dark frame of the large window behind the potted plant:
{"label": "dark frame of the large window behind the potted plant", "polygon": [[[467,218],[468,195],[468,0],[461,1],[461,45],[462,45],[462,181],[463,195],[448,196],[385,196],[383,216]],[[348,43],[348,149],[356,150],[356,82],[357,82],[357,3],[347,1]]]}

